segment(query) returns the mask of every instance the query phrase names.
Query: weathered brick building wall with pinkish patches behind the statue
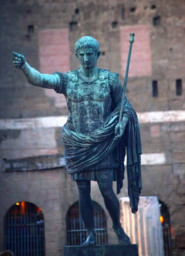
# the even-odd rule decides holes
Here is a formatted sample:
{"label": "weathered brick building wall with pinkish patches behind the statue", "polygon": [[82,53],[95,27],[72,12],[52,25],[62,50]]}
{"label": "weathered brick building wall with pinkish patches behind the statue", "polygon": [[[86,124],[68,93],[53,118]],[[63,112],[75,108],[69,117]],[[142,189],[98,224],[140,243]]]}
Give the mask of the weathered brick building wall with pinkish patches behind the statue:
{"label": "weathered brick building wall with pinkish patches behind the statue", "polygon": [[[78,201],[62,157],[65,98],[28,84],[12,52],[41,73],[65,73],[79,67],[75,41],[90,35],[100,44],[98,67],[119,73],[123,83],[134,32],[127,98],[140,123],[142,195],[156,195],[167,207],[173,256],[185,255],[184,14],[183,0],[0,0],[0,250],[7,212],[29,202],[43,213],[46,256],[61,256],[66,216]],[[92,199],[107,216],[108,242],[116,243],[95,182]]]}

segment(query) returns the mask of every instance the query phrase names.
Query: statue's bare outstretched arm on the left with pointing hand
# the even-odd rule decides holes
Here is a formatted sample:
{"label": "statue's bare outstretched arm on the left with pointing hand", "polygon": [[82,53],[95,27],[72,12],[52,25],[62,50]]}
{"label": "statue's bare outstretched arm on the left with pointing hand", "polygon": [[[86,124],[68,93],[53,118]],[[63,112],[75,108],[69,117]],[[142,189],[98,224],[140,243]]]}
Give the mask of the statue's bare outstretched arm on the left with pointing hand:
{"label": "statue's bare outstretched arm on the left with pointing hand", "polygon": [[23,55],[16,52],[13,52],[13,64],[14,67],[21,70],[26,81],[32,85],[55,90],[57,85],[60,84],[58,75],[40,74],[40,72],[29,66]]}

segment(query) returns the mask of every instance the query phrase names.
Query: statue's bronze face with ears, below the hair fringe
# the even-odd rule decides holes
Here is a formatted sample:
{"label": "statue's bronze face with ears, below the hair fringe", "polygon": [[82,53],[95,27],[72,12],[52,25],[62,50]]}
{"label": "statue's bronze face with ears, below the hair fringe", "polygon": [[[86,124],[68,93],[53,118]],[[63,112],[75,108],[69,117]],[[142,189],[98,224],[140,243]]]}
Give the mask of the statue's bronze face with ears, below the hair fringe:
{"label": "statue's bronze face with ears, below the hair fringe", "polygon": [[95,52],[93,48],[79,49],[78,54],[76,54],[81,66],[86,69],[96,67],[99,55],[100,52]]}

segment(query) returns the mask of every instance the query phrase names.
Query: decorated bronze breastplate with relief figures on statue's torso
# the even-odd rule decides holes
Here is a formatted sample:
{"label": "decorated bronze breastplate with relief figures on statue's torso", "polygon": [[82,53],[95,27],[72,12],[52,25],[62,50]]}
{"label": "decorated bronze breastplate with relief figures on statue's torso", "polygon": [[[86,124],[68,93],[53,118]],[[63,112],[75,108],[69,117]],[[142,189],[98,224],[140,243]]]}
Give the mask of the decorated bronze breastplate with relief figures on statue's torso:
{"label": "decorated bronze breastplate with relief figures on statue's torso", "polygon": [[90,134],[104,124],[110,115],[111,97],[109,70],[100,69],[97,79],[83,81],[76,71],[67,73],[66,101],[69,110],[67,122],[77,132]]}

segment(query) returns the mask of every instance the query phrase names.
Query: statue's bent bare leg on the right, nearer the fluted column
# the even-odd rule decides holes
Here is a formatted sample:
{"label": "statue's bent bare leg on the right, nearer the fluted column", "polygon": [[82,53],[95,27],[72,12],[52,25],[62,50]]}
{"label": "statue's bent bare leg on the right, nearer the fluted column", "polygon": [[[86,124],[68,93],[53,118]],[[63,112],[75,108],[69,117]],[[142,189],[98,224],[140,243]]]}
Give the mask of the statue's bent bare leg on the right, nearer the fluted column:
{"label": "statue's bent bare leg on the right, nearer the fluted column", "polygon": [[113,221],[113,229],[118,237],[119,244],[131,244],[130,238],[121,227],[119,200],[113,191],[113,182],[98,181],[98,186],[104,198],[105,207]]}

